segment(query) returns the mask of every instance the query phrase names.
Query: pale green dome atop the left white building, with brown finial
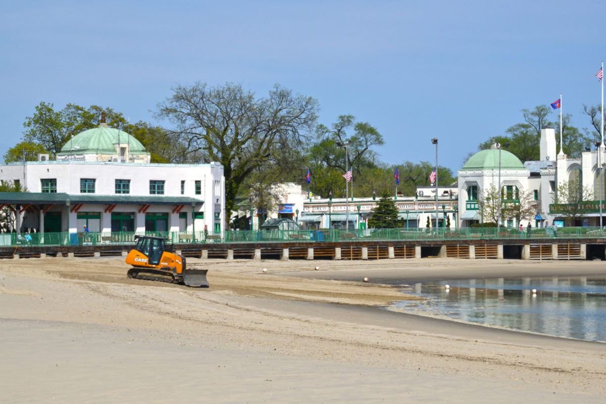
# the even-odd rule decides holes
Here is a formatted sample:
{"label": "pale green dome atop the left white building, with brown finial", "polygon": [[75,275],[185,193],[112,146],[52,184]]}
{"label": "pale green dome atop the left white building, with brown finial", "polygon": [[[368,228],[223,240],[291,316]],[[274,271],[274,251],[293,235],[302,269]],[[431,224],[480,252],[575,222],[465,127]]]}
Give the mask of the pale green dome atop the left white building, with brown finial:
{"label": "pale green dome atop the left white building, with brown finial", "polygon": [[71,141],[67,141],[58,156],[68,154],[116,154],[114,145],[128,144],[130,154],[149,154],[135,137],[125,131],[99,125],[98,128],[88,129],[76,134]]}

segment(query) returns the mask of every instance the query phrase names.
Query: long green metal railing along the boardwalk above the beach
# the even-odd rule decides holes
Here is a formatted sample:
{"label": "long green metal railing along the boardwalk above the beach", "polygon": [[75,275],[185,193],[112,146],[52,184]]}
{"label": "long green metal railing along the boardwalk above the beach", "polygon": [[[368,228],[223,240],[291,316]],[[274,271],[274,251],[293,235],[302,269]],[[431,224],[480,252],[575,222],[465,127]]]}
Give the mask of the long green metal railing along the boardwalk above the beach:
{"label": "long green metal railing along the boardwalk above the beach", "polygon": [[164,237],[171,243],[257,243],[257,242],[342,242],[348,240],[494,240],[494,239],[552,239],[554,237],[582,239],[606,237],[606,229],[599,227],[531,228],[396,228],[356,230],[259,230],[226,231],[224,236],[205,237],[203,231],[185,232],[120,232],[120,233],[3,233],[0,247],[43,245],[103,245],[134,244],[135,236]]}

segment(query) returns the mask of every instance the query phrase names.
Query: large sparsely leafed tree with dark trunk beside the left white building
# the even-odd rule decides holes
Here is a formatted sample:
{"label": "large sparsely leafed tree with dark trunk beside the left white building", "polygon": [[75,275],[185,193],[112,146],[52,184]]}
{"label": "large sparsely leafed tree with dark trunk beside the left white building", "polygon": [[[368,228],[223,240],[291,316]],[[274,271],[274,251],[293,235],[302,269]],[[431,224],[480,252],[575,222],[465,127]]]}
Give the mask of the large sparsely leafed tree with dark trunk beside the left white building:
{"label": "large sparsely leafed tree with dark trunk beside the left white building", "polygon": [[[157,116],[173,124],[184,153],[201,153],[205,162],[220,162],[225,176],[225,209],[235,208],[244,180],[284,150],[301,147],[315,125],[318,102],[276,85],[256,98],[241,85],[178,85],[158,104]],[[230,216],[229,214],[226,217]]]}

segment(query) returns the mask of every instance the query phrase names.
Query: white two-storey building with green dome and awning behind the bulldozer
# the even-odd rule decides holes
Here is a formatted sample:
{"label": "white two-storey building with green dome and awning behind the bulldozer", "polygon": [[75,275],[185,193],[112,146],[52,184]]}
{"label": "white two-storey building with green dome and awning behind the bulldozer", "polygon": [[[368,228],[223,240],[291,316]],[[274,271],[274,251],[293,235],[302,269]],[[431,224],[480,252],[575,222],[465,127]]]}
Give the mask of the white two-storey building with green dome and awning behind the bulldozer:
{"label": "white two-storey building with green dome and awning behind the bulldozer", "polygon": [[[104,119],[102,119],[104,121]],[[86,130],[64,145],[56,161],[0,166],[0,180],[28,193],[2,193],[19,231],[196,233],[225,223],[225,179],[219,163],[151,164],[135,137],[108,128]]]}

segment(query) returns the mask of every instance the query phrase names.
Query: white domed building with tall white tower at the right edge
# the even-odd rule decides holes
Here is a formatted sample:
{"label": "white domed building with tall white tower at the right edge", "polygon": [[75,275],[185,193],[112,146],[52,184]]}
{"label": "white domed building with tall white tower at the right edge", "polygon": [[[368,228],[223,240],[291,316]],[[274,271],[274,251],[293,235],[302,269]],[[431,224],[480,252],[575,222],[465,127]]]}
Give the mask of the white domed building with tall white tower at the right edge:
{"label": "white domed building with tall white tower at the right edge", "polygon": [[[604,147],[601,147],[601,150],[603,154]],[[598,151],[585,150],[581,153],[581,159],[568,159],[568,156],[561,151],[556,154],[555,131],[553,128],[544,128],[541,130],[539,153],[539,161],[527,161],[524,164],[514,154],[497,147],[479,151],[471,156],[458,172],[461,226],[468,227],[481,220],[479,200],[482,191],[490,188],[491,185],[496,189],[502,187],[504,200],[507,200],[508,194],[515,194],[516,190],[531,191],[531,196],[539,202],[540,208],[533,219],[522,220],[524,226],[528,221],[534,227],[542,227],[553,222],[558,227],[599,226]],[[604,167],[603,163],[602,167]],[[582,221],[576,223],[566,222],[560,211],[554,209],[558,187],[573,180],[593,190],[594,199],[589,205],[585,204],[588,207],[587,213]],[[605,180],[606,175],[603,175],[602,200],[606,199]],[[502,225],[517,227],[519,223],[507,220]]]}

